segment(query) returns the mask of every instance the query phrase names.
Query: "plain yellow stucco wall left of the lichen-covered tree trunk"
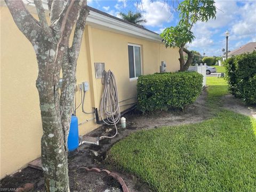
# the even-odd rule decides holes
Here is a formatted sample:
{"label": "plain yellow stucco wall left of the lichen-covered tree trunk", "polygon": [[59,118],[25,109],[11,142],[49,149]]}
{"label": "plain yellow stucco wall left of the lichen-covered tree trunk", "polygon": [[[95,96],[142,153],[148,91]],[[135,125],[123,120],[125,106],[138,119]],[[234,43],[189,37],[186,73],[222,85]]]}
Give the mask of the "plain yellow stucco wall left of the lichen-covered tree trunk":
{"label": "plain yellow stucco wall left of the lichen-covered tree trunk", "polygon": [[1,178],[40,156],[42,125],[33,46],[1,7]]}

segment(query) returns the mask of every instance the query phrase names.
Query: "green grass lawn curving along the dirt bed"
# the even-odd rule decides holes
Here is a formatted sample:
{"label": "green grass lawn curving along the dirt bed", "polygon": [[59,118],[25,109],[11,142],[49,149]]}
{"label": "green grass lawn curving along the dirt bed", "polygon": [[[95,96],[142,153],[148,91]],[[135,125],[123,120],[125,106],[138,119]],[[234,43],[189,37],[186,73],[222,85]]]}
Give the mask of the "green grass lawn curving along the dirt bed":
{"label": "green grass lawn curving along the dirt bed", "polygon": [[133,133],[110,149],[109,162],[156,191],[256,191],[256,120],[219,108],[223,78],[206,82],[215,116]]}

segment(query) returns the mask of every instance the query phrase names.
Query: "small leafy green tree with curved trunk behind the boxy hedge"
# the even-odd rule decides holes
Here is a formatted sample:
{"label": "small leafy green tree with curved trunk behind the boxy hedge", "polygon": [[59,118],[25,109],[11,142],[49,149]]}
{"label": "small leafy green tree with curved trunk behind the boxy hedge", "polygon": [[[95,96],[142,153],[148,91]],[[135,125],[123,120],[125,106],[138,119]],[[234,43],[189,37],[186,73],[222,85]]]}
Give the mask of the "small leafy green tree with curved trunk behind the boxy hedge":
{"label": "small leafy green tree with curved trunk behind the boxy hedge", "polygon": [[[206,22],[215,19],[216,7],[212,0],[185,0],[179,3],[177,11],[180,21],[175,27],[166,28],[160,36],[166,47],[179,47],[180,70],[187,70],[193,61],[194,53],[185,48],[186,43],[191,43],[195,36],[191,28],[197,21]],[[184,61],[183,51],[188,54],[188,60]]]}

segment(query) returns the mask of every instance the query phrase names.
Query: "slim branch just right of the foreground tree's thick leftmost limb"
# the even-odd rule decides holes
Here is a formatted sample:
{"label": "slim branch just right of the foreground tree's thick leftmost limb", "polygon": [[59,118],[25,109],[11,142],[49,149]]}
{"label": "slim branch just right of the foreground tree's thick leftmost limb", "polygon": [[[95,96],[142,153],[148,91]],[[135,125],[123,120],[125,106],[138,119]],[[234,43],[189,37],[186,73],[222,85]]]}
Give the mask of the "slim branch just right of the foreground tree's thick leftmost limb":
{"label": "slim branch just right of the foreground tree's thick leftmost limb", "polygon": [[37,15],[39,18],[39,23],[43,29],[43,32],[49,36],[52,37],[52,33],[51,33],[51,29],[48,26],[48,23],[46,21],[46,17],[45,17],[45,12],[44,12],[44,7],[42,5],[42,0],[34,0],[35,6],[36,6],[36,11],[37,11]]}

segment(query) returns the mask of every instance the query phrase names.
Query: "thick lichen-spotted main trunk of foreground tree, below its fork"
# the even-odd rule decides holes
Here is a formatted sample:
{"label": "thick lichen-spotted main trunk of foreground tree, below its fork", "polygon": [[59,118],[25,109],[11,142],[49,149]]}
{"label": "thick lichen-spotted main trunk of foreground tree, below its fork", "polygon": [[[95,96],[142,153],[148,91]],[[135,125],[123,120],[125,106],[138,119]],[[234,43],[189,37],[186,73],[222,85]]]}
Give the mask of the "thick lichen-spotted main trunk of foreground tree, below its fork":
{"label": "thick lichen-spotted main trunk of foreground tree, below its fork", "polygon": [[[59,71],[61,58],[55,60],[57,44],[41,41],[37,51],[39,93],[43,136],[41,139],[42,169],[45,191],[68,191],[68,161],[65,132],[62,130],[59,103]],[[74,95],[74,94],[73,94]]]}

